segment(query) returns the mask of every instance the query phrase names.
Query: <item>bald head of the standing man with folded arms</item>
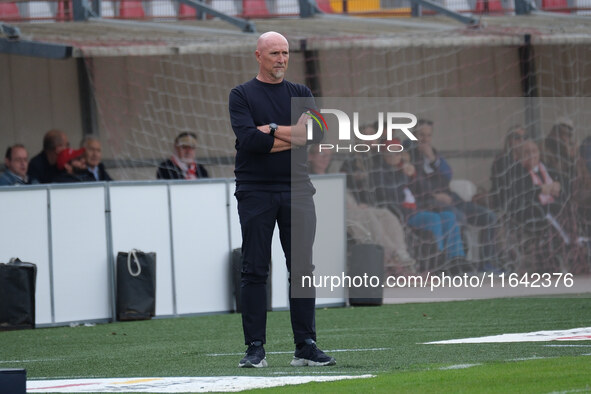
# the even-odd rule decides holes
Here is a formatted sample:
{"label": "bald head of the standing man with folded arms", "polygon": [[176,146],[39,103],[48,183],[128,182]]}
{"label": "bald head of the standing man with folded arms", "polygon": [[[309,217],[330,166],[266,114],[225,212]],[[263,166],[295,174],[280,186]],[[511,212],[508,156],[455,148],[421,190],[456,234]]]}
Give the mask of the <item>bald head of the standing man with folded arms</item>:
{"label": "bald head of the standing man with folded arms", "polygon": [[289,45],[281,36],[268,37],[255,52],[259,73],[270,82],[281,82],[289,62]]}

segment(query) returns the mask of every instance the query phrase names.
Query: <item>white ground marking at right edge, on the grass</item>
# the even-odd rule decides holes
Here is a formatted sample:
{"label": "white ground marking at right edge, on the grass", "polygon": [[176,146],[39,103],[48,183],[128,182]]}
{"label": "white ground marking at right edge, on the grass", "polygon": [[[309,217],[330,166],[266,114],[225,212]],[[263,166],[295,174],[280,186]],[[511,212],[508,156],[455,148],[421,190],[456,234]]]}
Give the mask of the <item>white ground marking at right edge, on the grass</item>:
{"label": "white ground marking at right edge, on the grass", "polygon": [[504,343],[504,342],[542,342],[542,341],[589,341],[591,327],[570,330],[536,331],[514,334],[491,335],[487,337],[450,339],[446,341],[425,342],[425,344],[454,343]]}

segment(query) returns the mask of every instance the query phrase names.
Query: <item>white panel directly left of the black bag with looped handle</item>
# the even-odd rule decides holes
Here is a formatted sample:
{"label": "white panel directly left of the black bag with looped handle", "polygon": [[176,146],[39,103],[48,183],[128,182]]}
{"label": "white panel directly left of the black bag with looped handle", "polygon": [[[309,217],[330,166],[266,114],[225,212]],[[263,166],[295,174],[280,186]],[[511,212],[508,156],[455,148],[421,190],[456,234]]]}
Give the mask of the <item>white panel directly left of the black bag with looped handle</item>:
{"label": "white panel directly left of the black bag with looped handle", "polygon": [[50,189],[55,323],[109,319],[102,186]]}

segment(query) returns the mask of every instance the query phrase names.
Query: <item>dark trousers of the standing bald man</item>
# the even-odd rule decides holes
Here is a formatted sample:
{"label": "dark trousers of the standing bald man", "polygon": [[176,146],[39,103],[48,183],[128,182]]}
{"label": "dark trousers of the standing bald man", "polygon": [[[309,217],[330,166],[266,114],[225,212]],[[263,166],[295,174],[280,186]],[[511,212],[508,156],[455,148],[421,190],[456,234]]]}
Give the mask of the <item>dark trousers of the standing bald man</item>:
{"label": "dark trousers of the standing bald man", "polygon": [[[291,192],[239,191],[238,215],[242,228],[242,327],[244,342],[266,343],[266,283],[271,262],[275,223],[290,278],[289,307],[294,342],[316,340],[315,293],[298,291],[295,280],[312,275],[312,246],[316,211],[311,193],[292,199]],[[299,282],[301,283],[301,282]],[[292,286],[292,284],[294,286]]]}

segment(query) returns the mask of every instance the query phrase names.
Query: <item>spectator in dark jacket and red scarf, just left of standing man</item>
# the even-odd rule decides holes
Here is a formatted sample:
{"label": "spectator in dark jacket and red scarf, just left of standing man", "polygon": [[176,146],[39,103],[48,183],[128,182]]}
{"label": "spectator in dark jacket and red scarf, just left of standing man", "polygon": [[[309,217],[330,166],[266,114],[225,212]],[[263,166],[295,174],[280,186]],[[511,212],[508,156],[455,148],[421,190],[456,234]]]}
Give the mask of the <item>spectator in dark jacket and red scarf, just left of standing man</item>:
{"label": "spectator in dark jacket and red scarf, just left of standing man", "polygon": [[208,178],[207,170],[195,161],[197,136],[194,133],[181,133],[174,140],[174,153],[160,163],[158,179],[199,179]]}

